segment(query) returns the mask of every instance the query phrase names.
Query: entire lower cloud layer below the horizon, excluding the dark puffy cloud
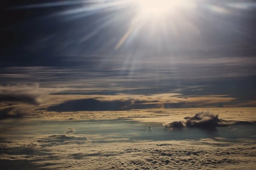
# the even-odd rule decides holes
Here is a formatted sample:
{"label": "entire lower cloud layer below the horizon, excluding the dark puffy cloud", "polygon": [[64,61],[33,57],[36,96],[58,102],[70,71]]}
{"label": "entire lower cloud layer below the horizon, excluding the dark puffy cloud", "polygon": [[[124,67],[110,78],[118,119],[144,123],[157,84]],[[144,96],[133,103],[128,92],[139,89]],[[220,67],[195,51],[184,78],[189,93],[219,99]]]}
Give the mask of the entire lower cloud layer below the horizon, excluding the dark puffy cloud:
{"label": "entire lower cloud layer below the horizon, excluding the dark puffy cloud", "polygon": [[[256,157],[255,123],[234,124],[217,129],[215,132],[218,133],[209,133],[198,128],[169,131],[154,122],[157,119],[180,120],[186,115],[190,115],[187,119],[200,122],[219,122],[221,118],[247,122],[256,119],[255,108],[211,108],[210,113],[219,113],[220,118],[207,112],[198,113],[196,109],[45,111],[30,115],[33,119],[26,121],[1,120],[0,168],[15,169],[15,166],[25,164],[24,169],[31,167],[32,170],[35,167],[49,170],[253,169]],[[152,119],[144,123],[127,120],[145,120],[147,117]],[[120,120],[122,118],[125,120]],[[149,125],[154,129],[150,133],[147,132]]]}

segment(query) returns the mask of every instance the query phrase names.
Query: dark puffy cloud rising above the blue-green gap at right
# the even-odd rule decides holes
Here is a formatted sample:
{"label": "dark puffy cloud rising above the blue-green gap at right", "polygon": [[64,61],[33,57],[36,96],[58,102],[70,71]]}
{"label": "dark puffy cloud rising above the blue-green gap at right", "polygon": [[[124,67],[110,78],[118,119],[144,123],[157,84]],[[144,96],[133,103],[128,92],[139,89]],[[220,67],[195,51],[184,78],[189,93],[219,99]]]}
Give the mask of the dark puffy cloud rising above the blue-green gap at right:
{"label": "dark puffy cloud rising above the blue-green gap at right", "polygon": [[184,117],[185,121],[175,121],[164,123],[165,128],[181,128],[181,127],[200,127],[215,128],[218,126],[228,125],[232,122],[218,118],[218,114],[212,114],[209,111],[196,113],[195,116]]}

